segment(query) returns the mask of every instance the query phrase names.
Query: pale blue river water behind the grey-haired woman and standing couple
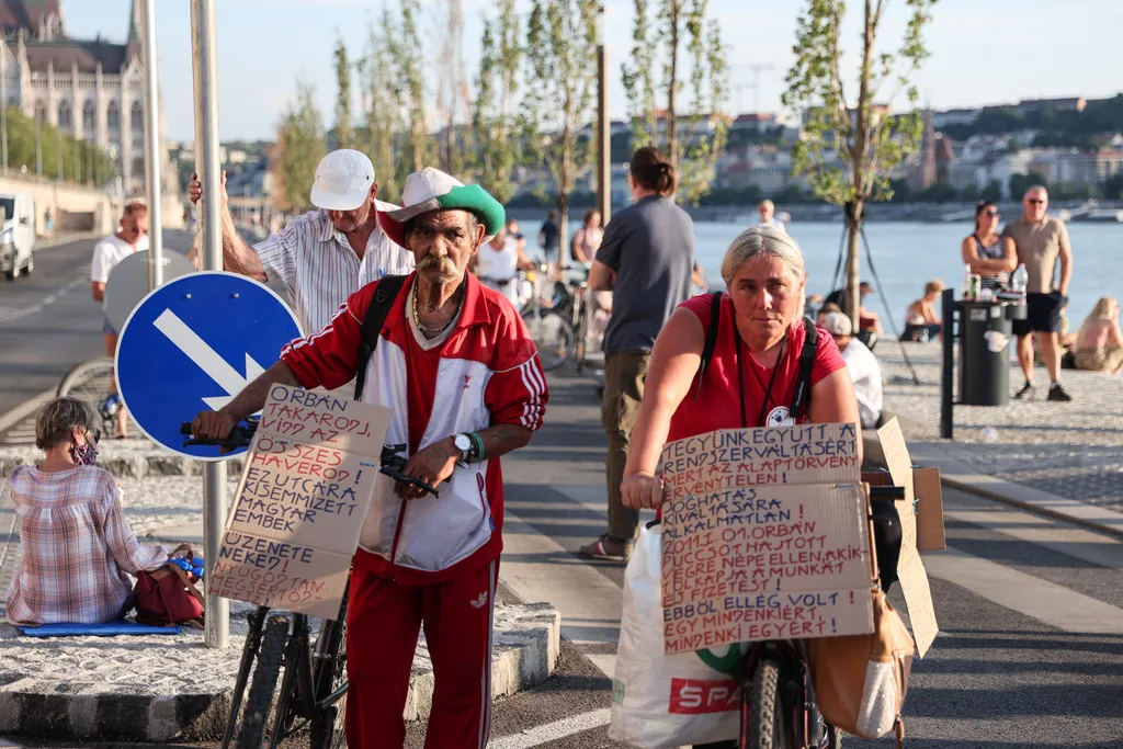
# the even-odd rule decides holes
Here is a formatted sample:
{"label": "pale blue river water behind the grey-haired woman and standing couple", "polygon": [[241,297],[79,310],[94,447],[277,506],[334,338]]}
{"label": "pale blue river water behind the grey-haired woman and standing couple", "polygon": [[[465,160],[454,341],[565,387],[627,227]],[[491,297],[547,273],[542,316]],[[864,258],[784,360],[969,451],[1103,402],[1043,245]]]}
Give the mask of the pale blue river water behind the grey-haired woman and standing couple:
{"label": "pale blue river water behind the grey-haired woman and standing couple", "polygon": [[[711,285],[721,287],[721,258],[730,243],[743,229],[737,223],[699,221],[695,252]],[[964,263],[960,246],[970,234],[970,225],[868,222],[866,237],[873,266],[880,278],[876,283],[862,248],[861,277],[875,283],[876,294],[866,298],[866,307],[885,318],[884,293],[889,312],[900,330],[905,309],[924,292],[924,283],[940,278],[961,290]],[[825,295],[839,258],[841,223],[795,222],[788,227],[800,243],[807,266],[807,293]],[[1123,298],[1123,225],[1074,222],[1068,225],[1072,240],[1072,283],[1069,287],[1069,327],[1075,331],[1101,296]]]}

